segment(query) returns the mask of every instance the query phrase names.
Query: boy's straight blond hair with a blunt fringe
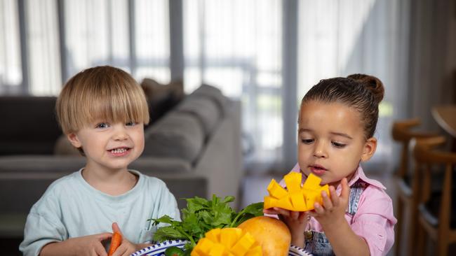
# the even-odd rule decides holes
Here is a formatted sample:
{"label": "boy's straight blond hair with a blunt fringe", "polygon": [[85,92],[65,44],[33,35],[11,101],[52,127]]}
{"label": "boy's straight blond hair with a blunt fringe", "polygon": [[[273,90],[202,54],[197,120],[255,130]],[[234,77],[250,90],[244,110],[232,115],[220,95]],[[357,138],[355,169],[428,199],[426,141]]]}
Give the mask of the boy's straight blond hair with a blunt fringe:
{"label": "boy's straight blond hair with a blunt fringe", "polygon": [[95,66],[73,76],[55,104],[64,134],[97,120],[149,123],[143,90],[128,73],[112,66]]}

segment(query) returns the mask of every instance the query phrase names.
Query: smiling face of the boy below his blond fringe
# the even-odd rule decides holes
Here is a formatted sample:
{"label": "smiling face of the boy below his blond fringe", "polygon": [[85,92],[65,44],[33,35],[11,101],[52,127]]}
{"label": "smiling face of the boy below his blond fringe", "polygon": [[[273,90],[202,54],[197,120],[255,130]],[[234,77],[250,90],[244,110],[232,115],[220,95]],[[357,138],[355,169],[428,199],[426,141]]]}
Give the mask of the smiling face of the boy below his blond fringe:
{"label": "smiling face of the boy below his blond fringe", "polygon": [[86,169],[126,170],[144,150],[144,125],[98,121],[68,134],[68,139],[76,148],[83,148]]}

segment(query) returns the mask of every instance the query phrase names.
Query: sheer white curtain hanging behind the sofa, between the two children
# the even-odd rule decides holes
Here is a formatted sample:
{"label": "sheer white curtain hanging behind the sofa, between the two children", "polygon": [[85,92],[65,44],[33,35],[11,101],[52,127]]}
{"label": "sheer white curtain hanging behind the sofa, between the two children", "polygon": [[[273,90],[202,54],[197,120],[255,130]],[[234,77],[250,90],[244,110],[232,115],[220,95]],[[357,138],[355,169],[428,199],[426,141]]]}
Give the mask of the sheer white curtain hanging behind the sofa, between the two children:
{"label": "sheer white curtain hanging behind the sofa, between the two children", "polygon": [[[185,88],[214,85],[242,102],[246,157],[281,159],[280,0],[185,0]],[[258,165],[255,168],[261,168]]]}

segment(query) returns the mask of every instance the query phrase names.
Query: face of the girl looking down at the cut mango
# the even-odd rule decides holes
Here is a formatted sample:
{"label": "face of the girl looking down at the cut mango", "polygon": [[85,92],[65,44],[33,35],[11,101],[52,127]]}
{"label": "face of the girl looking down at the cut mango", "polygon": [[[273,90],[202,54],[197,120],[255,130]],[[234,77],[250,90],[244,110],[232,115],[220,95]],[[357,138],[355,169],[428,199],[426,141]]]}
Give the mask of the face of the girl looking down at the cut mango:
{"label": "face of the girl looking down at the cut mango", "polygon": [[309,101],[301,106],[298,162],[306,176],[337,186],[353,176],[361,161],[372,157],[375,138],[366,140],[360,114],[344,104]]}

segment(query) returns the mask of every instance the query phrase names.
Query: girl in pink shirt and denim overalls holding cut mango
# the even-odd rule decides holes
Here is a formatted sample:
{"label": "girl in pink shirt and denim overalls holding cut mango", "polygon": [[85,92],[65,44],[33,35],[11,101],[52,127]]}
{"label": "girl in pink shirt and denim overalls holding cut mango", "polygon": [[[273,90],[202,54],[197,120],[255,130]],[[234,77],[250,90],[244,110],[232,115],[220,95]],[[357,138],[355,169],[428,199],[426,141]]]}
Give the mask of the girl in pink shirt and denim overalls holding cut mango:
{"label": "girl in pink shirt and denim overalls holding cut mango", "polygon": [[303,180],[314,173],[323,205],[314,211],[264,210],[279,214],[292,234],[292,244],[314,255],[386,255],[394,243],[391,199],[377,180],[367,178],[360,163],[373,156],[378,105],[384,88],[373,76],[331,78],[302,99],[298,130],[298,164],[292,171]]}

